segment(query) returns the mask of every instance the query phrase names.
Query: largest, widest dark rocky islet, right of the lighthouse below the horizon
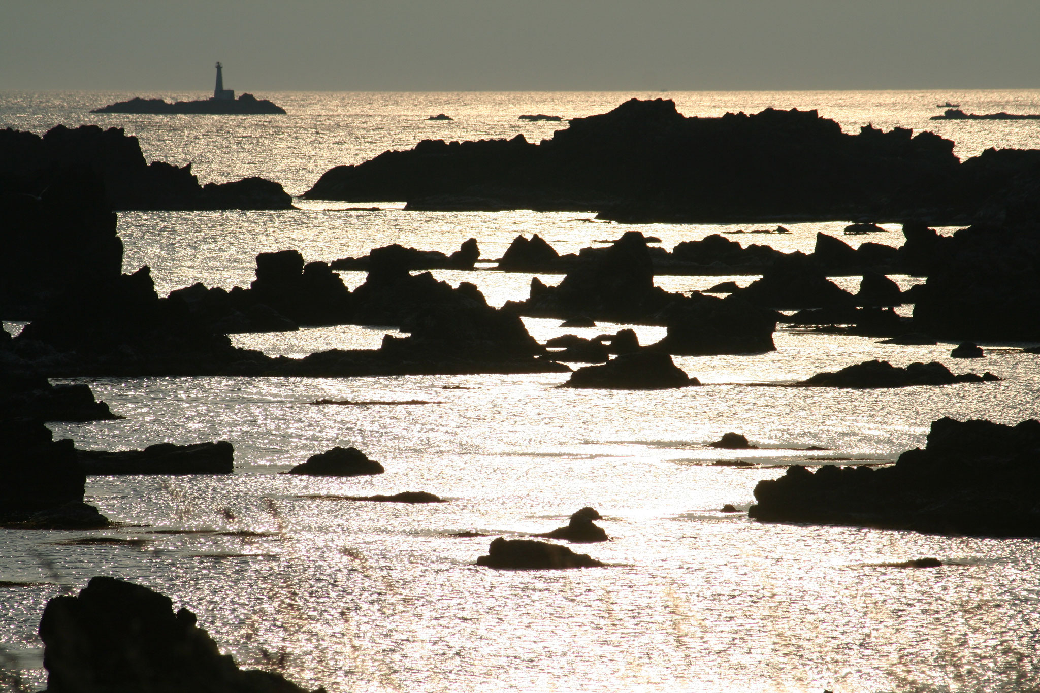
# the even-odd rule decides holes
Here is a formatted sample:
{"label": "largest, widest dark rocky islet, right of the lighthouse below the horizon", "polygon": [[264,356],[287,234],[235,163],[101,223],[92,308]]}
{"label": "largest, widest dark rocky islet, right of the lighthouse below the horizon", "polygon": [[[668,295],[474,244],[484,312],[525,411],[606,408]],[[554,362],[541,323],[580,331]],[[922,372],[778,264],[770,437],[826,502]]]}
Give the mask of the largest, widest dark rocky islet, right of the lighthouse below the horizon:
{"label": "largest, widest dark rocky islet, right of the lighthouse below the horizon", "polygon": [[994,161],[999,153],[961,163],[953,148],[905,128],[846,134],[814,110],[684,117],[671,100],[632,99],[573,118],[537,144],[522,135],[422,140],[410,151],[336,166],[305,196],[406,201],[425,210],[591,210],[626,222],[962,223],[1030,175],[1029,156],[1010,157],[1011,165]]}

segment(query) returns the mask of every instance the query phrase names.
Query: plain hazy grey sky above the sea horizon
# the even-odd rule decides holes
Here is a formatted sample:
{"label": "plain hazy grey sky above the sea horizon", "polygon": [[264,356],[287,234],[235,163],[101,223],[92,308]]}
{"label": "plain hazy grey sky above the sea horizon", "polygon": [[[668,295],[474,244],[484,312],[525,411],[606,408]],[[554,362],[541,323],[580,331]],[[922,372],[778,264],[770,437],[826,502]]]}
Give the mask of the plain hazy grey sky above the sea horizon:
{"label": "plain hazy grey sky above the sea horizon", "polygon": [[0,89],[1040,87],[1040,0],[0,0]]}

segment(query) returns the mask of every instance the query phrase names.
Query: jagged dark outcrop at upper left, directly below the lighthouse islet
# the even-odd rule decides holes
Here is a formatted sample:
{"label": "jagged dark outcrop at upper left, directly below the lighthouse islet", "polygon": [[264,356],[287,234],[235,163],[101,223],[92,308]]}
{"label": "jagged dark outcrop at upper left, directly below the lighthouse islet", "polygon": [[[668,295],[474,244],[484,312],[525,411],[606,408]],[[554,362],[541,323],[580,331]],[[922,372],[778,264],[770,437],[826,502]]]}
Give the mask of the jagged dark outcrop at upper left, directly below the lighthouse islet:
{"label": "jagged dark outcrop at upper left, directly below the lighthouse islet", "polygon": [[243,179],[206,188],[191,164],[148,163],[134,136],[122,128],[55,126],[42,137],[0,130],[0,177],[35,179],[55,167],[86,167],[101,177],[107,204],[118,210],[291,209],[292,198],[278,183]]}

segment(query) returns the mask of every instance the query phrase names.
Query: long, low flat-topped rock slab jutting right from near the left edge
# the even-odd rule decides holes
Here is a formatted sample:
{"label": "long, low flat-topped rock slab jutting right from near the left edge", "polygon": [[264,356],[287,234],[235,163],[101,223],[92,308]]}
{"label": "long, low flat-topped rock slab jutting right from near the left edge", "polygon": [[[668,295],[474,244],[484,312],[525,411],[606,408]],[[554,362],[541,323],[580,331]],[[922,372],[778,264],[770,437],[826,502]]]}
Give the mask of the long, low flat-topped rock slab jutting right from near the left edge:
{"label": "long, low flat-topped rock slab jutting right from near the left edge", "polygon": [[77,450],[76,457],[88,475],[116,474],[231,474],[234,448],[227,441],[173,445],[160,443],[144,450],[107,452]]}

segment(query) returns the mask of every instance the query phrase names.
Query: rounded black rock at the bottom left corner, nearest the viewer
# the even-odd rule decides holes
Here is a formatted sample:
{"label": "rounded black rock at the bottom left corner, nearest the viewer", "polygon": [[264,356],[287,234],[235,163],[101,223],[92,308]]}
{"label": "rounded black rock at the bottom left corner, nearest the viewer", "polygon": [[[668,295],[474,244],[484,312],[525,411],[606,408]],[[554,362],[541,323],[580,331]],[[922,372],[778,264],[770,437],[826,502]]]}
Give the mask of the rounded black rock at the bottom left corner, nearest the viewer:
{"label": "rounded black rock at the bottom left corner, nearest the viewer", "polygon": [[40,620],[49,693],[304,693],[280,674],[239,669],[187,609],[114,578],[47,603]]}

